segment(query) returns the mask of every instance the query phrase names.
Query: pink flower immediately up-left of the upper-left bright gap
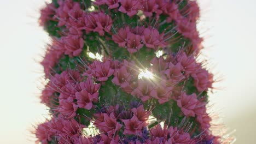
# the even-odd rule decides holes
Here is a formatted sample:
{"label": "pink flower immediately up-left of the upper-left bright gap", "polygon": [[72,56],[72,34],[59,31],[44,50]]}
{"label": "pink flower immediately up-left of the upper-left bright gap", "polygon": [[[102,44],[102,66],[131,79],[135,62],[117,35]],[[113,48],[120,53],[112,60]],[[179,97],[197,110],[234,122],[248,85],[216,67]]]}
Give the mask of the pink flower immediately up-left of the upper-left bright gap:
{"label": "pink flower immediately up-left of the upper-left bright gap", "polygon": [[69,57],[79,56],[80,53],[83,51],[84,40],[80,37],[62,37],[62,43],[66,49],[65,55],[69,55]]}

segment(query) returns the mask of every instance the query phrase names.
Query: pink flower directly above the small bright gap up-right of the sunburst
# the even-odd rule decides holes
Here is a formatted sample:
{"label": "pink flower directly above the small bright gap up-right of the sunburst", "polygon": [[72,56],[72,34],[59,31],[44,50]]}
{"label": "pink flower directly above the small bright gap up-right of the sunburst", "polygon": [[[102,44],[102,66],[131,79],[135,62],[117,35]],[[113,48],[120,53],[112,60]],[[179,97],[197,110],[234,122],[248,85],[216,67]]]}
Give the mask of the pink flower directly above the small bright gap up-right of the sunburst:
{"label": "pink flower directly above the small bright gap up-right of the sunburst", "polygon": [[159,34],[157,29],[144,29],[144,34],[142,35],[143,43],[152,49],[157,49],[158,46],[165,47],[166,43],[164,42],[164,33]]}

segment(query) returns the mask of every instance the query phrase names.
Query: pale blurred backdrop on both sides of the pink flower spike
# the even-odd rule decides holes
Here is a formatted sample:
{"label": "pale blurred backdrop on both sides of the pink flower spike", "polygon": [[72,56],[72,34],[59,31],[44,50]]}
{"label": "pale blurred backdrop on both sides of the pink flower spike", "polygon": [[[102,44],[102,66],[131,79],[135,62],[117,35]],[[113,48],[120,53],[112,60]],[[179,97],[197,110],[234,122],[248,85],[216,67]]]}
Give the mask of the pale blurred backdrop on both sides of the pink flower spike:
{"label": "pale blurred backdrop on both sides of the pink flower spike", "polygon": [[[256,1],[200,0],[202,57],[222,81],[211,95],[213,109],[235,136],[256,141]],[[0,143],[34,143],[32,124],[43,121],[39,104],[48,35],[38,27],[44,0],[0,0]]]}

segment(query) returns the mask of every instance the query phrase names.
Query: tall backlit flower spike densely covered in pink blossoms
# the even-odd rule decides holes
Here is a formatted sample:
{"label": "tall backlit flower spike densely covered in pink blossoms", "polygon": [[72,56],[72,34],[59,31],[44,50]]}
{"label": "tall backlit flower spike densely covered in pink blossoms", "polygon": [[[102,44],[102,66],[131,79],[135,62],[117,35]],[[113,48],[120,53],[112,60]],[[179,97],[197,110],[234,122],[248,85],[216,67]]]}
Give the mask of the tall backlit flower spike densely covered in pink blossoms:
{"label": "tall backlit flower spike densely covered in pink blossoms", "polygon": [[190,0],[53,0],[37,143],[222,143]]}

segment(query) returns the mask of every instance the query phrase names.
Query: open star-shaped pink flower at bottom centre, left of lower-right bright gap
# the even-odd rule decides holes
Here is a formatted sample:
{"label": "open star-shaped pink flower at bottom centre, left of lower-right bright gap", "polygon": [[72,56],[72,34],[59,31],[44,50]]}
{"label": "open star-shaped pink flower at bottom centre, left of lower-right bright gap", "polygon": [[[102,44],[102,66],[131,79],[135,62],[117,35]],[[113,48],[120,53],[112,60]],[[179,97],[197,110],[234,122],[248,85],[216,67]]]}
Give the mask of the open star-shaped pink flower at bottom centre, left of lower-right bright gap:
{"label": "open star-shaped pink flower at bottom centre, left of lower-right bright gap", "polygon": [[141,134],[141,129],[144,125],[144,122],[138,120],[136,115],[133,115],[131,119],[122,119],[125,124],[125,135],[139,135]]}

